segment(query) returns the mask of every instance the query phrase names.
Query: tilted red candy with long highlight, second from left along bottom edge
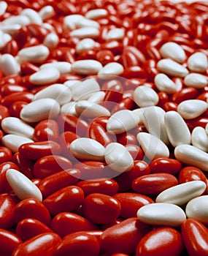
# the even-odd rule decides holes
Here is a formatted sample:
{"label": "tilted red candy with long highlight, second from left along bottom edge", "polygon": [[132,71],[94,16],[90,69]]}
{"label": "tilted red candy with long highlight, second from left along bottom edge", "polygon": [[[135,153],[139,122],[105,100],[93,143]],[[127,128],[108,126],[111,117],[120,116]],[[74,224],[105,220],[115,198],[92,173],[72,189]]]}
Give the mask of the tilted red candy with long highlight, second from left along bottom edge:
{"label": "tilted red candy with long highlight, second from left along bottom edge", "polygon": [[[61,238],[55,233],[42,233],[38,236],[34,236],[29,240],[20,244],[13,256],[25,256],[25,255],[39,255],[39,256],[52,256],[57,246],[61,244]],[[37,246],[38,245],[38,246]]]}

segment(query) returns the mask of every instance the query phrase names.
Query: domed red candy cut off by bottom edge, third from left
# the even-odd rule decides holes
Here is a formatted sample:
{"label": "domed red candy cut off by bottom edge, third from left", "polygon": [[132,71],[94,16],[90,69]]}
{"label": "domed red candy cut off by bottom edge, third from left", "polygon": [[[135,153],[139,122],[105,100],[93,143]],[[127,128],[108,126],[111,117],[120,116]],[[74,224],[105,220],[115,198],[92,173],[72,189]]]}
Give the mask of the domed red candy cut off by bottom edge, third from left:
{"label": "domed red candy cut off by bottom edge, third from left", "polygon": [[63,238],[53,256],[98,256],[99,241],[85,231],[75,232]]}

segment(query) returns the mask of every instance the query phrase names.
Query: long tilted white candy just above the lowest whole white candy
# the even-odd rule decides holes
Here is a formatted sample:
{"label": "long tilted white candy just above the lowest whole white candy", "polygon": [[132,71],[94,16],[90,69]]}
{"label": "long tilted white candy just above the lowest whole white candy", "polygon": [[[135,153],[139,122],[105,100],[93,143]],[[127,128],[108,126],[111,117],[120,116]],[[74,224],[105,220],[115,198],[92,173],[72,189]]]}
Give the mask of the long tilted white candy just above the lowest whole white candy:
{"label": "long tilted white candy just above the lowest whole white candy", "polygon": [[203,181],[189,181],[164,190],[156,197],[155,202],[183,206],[194,197],[199,197],[206,187],[207,184]]}

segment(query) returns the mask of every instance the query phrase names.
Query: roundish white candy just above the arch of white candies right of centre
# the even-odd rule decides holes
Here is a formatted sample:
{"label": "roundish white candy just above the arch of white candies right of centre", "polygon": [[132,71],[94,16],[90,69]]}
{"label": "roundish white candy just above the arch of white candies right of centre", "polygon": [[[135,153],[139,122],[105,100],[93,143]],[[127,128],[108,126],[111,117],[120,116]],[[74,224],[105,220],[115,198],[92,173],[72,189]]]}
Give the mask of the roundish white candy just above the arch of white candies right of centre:
{"label": "roundish white candy just above the arch of white candies right of centre", "polygon": [[148,86],[138,86],[134,91],[134,101],[140,108],[157,105],[158,94]]}

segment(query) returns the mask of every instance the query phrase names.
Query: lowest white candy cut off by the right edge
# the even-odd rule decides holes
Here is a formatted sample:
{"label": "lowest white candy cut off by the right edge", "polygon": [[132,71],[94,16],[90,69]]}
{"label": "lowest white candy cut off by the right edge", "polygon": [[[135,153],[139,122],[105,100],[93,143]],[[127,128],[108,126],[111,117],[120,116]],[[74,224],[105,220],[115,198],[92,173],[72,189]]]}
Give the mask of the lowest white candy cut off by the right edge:
{"label": "lowest white candy cut off by the right edge", "polygon": [[190,200],[185,208],[188,218],[196,219],[199,222],[208,224],[208,195],[202,195]]}

